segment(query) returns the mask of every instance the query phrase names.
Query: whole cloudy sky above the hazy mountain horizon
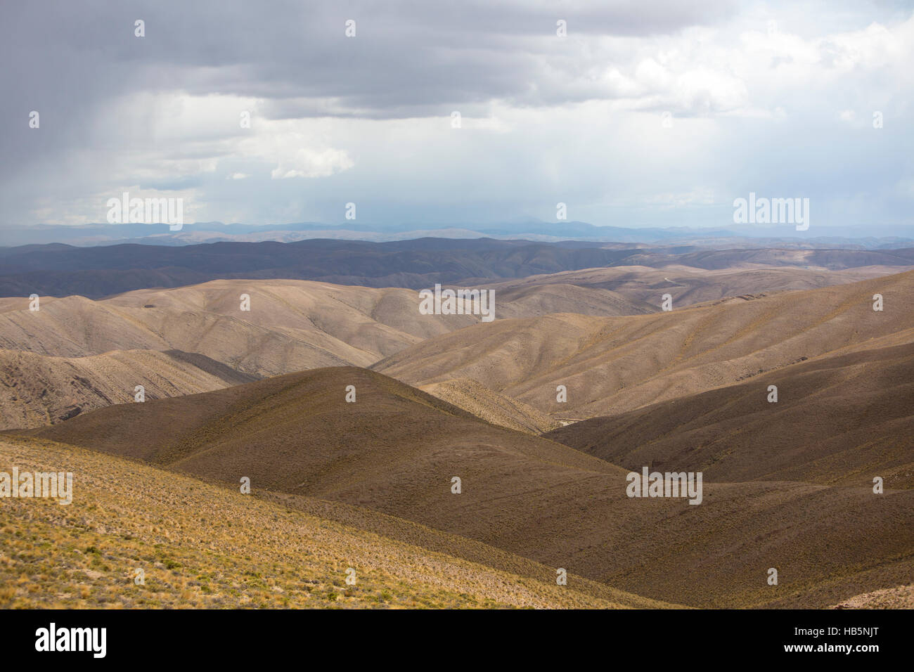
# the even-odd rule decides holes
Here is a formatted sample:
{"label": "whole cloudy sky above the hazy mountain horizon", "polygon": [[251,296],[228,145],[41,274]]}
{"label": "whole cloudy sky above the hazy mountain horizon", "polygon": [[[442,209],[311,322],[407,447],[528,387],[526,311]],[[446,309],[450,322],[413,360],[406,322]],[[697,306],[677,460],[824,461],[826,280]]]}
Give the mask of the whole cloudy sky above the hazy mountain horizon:
{"label": "whole cloudy sky above the hazy mountain horizon", "polygon": [[914,233],[911,3],[37,0],[0,5],[0,59],[0,229],[123,192],[186,222],[734,229],[755,193]]}

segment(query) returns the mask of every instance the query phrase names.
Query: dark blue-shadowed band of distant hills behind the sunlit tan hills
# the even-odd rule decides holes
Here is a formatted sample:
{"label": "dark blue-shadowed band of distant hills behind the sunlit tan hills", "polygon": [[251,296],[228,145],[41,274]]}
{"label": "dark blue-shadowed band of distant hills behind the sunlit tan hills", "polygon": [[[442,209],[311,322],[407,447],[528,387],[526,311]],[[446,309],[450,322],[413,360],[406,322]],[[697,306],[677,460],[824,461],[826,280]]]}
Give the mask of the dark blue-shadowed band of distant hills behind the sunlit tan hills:
{"label": "dark blue-shadowed band of distant hills behind the sunlit tan hills", "polygon": [[101,298],[220,278],[282,278],[423,289],[435,283],[494,283],[582,269],[617,266],[659,269],[674,265],[705,270],[760,266],[830,271],[878,266],[907,270],[914,265],[914,247],[708,250],[694,245],[435,238],[382,243],[217,242],[179,247],[121,244],[83,248],[53,243],[0,248],[0,296],[37,293]]}

